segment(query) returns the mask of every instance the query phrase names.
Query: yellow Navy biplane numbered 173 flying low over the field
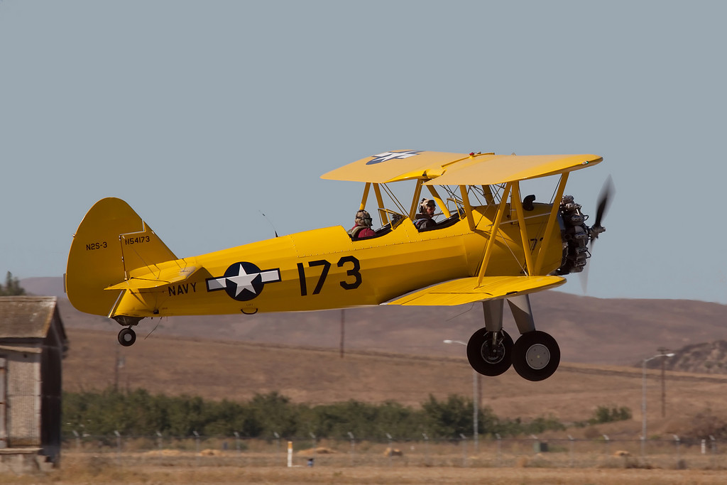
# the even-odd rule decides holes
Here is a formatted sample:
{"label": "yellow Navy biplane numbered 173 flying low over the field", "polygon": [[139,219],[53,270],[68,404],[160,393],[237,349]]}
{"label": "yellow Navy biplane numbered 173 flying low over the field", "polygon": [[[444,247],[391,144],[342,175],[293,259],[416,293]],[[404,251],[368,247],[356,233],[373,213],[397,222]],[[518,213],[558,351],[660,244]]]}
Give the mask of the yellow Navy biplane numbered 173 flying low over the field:
{"label": "yellow Navy biplane numbered 173 flying low over the field", "polygon": [[[522,377],[543,380],[557,369],[560,350],[535,329],[529,293],[585,268],[587,244],[605,231],[607,197],[589,227],[563,194],[570,172],[601,160],[379,153],[322,176],[365,184],[359,209],[375,198],[381,223],[370,236],[337,225],[196,257],[178,258],[126,202],[103,199],[73,236],[65,289],[78,310],[124,326],[124,346],[147,317],[482,302],[484,327],[467,345],[473,369],[494,376],[513,365]],[[559,176],[552,201],[521,196],[521,181],[549,175]],[[413,187],[405,204],[391,190],[403,183]],[[415,225],[422,193],[442,218],[424,229]],[[521,334],[514,343],[502,329],[505,300]]]}

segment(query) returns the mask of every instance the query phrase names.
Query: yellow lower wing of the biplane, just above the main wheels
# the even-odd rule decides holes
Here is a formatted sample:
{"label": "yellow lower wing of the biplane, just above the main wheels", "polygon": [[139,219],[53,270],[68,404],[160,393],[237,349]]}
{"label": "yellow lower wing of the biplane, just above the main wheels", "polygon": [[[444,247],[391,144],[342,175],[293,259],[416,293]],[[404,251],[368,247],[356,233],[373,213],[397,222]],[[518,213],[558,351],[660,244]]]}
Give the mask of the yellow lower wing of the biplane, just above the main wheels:
{"label": "yellow lower wing of the biplane, just above the main wheels", "polygon": [[483,300],[497,300],[516,294],[540,292],[566,282],[562,276],[485,276],[475,288],[477,277],[453,279],[405,294],[385,305],[463,305]]}

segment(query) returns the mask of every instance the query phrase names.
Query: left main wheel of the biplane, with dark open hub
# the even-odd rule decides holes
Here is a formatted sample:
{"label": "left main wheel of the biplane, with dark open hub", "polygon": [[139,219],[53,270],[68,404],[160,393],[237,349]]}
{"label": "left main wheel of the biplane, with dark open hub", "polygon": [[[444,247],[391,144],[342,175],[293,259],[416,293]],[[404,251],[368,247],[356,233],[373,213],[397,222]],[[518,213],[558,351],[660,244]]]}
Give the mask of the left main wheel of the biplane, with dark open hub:
{"label": "left main wheel of the biplane, with dark open hub", "polygon": [[512,349],[513,339],[505,330],[479,329],[467,342],[467,359],[480,374],[496,376],[510,369]]}

